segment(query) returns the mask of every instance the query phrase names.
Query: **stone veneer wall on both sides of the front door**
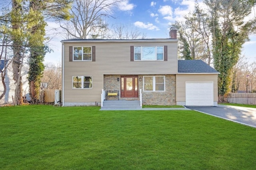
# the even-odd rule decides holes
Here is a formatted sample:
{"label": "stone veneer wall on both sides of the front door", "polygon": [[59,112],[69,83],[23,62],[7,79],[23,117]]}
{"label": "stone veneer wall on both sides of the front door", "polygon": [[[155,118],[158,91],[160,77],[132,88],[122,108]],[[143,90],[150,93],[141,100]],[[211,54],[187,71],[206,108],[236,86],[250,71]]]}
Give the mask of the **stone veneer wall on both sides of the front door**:
{"label": "stone veneer wall on both sides of the front door", "polygon": [[[154,76],[154,75],[152,75]],[[157,75],[156,75],[157,76]],[[119,78],[119,81],[117,81]],[[142,105],[176,105],[176,75],[165,75],[165,91],[143,91],[143,75],[138,75],[138,87],[142,90]],[[121,75],[104,75],[104,90],[118,90],[120,97]]]}

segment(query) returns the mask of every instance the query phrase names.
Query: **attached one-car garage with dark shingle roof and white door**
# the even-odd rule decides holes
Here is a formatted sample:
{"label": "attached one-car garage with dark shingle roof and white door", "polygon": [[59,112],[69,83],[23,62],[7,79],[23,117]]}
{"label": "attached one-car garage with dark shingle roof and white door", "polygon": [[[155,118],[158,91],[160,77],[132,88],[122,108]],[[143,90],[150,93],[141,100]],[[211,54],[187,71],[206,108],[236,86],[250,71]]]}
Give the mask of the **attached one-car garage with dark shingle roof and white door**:
{"label": "attached one-car garage with dark shingle roof and white door", "polygon": [[202,60],[178,60],[176,104],[218,106],[218,74]]}

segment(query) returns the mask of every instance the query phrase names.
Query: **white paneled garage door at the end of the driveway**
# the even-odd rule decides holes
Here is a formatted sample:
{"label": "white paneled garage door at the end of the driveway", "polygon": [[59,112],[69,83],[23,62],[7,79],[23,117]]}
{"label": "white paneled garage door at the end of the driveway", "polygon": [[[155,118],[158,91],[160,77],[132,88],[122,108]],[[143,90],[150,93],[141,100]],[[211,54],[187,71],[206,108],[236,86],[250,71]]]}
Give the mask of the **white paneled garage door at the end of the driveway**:
{"label": "white paneled garage door at the end of the driveway", "polygon": [[186,106],[213,106],[213,82],[186,82]]}

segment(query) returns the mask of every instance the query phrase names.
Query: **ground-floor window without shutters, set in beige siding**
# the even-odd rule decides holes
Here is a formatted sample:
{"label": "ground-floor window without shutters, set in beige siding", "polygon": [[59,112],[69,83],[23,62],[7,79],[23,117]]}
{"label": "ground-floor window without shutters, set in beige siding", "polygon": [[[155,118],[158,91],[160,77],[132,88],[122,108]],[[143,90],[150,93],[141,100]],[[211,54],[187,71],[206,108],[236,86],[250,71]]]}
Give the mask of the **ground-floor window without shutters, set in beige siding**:
{"label": "ground-floor window without shutters, set in beige siding", "polygon": [[73,76],[73,89],[92,89],[92,76]]}

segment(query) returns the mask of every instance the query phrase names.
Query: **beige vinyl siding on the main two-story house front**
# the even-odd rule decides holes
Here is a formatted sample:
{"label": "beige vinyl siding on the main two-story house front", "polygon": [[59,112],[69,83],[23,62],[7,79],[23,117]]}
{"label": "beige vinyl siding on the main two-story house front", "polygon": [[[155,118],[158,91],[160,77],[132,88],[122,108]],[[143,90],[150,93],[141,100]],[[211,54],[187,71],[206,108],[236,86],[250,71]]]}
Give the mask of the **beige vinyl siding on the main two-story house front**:
{"label": "beige vinyl siding on the main two-story house front", "polygon": [[[168,61],[130,61],[130,46],[168,45]],[[96,61],[69,61],[69,46],[95,46]],[[64,42],[64,102],[101,101],[103,75],[177,73],[177,42]],[[72,89],[72,76],[92,76],[92,89]]]}

